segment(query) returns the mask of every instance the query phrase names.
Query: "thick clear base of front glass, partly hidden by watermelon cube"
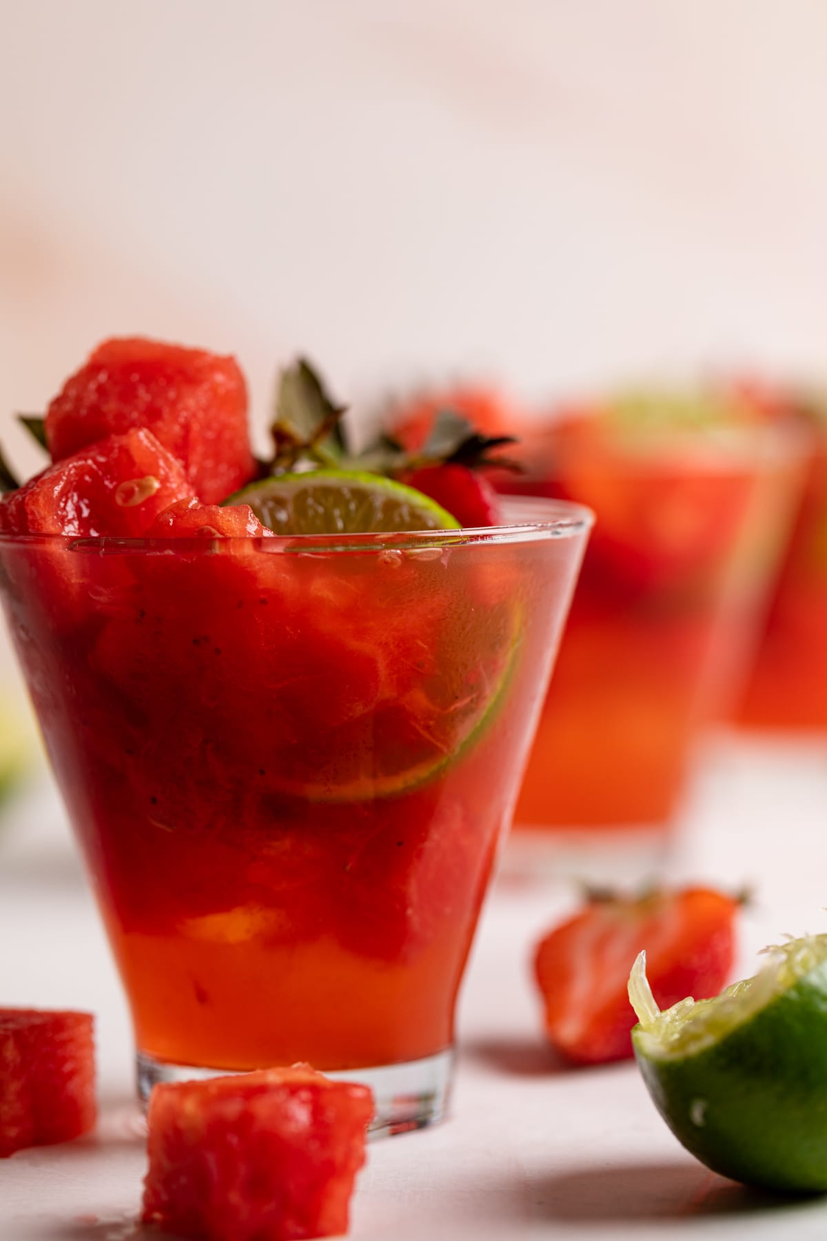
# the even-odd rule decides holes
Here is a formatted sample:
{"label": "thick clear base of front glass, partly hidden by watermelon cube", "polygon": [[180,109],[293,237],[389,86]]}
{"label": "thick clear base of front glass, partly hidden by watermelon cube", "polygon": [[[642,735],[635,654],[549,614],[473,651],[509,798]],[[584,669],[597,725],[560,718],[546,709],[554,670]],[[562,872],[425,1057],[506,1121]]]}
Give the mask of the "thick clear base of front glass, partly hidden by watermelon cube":
{"label": "thick clear base of front glass, partly hidden by watermelon cube", "polygon": [[[391,1137],[424,1129],[445,1119],[454,1066],[453,1050],[439,1051],[423,1060],[400,1065],[379,1065],[376,1069],[325,1071],[334,1081],[361,1082],[369,1086],[376,1100],[376,1114],[369,1124],[371,1138]],[[205,1081],[208,1077],[231,1076],[228,1069],[201,1069],[195,1065],[172,1065],[144,1052],[135,1059],[138,1095],[145,1104],[153,1086],[159,1082]]]}

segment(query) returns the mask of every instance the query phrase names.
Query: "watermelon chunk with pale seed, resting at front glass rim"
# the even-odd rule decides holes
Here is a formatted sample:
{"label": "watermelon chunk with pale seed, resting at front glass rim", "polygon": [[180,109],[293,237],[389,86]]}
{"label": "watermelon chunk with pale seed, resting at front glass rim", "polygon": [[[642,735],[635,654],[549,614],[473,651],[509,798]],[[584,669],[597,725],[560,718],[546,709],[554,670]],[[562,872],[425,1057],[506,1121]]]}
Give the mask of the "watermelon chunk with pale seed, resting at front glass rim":
{"label": "watermelon chunk with pale seed, resting at front glass rim", "polygon": [[128,431],[50,465],[0,500],[5,534],[140,537],[191,494],[184,469],[149,431]]}

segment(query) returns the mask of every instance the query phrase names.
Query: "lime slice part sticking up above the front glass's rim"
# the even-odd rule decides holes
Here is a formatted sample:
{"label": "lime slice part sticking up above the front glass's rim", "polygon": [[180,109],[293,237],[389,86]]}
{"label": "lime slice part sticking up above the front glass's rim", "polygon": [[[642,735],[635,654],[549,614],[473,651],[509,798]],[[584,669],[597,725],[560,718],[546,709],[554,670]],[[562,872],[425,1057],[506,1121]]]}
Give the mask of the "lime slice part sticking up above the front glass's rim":
{"label": "lime slice part sticking up above the front glass's rim", "polygon": [[276,535],[459,530],[439,504],[381,474],[320,469],[274,474],[231,495]]}

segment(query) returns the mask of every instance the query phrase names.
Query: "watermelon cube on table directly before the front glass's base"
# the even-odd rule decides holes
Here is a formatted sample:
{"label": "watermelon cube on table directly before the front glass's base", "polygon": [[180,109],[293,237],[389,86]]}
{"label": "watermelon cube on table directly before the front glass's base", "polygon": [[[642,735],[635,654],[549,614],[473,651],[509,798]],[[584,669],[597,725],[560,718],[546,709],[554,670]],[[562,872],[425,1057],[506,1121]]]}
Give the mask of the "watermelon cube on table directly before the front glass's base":
{"label": "watermelon cube on table directly before the front glass's base", "polygon": [[367,1086],[309,1065],[156,1086],[141,1220],[208,1241],[346,1232],[372,1114]]}

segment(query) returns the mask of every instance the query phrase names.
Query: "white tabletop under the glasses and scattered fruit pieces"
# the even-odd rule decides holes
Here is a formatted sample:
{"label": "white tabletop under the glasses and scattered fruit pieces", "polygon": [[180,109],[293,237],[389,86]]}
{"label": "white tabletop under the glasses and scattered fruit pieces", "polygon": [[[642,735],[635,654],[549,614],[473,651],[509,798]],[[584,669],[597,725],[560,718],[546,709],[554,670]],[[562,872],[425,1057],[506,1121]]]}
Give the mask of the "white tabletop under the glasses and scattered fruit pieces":
{"label": "white tabletop under the glasses and scattered fruit pieces", "polygon": [[[826,812],[827,742],[723,741],[712,751],[668,870],[755,886],[739,977],[784,932],[825,930]],[[777,1200],[708,1173],[663,1126],[632,1064],[572,1070],[546,1049],[527,959],[572,902],[563,884],[496,886],[462,993],[453,1114],[371,1144],[352,1236],[821,1241],[827,1198]],[[1,1241],[145,1237],[134,1224],[145,1159],[126,1011],[47,786],[0,829],[0,1004],[92,1009],[102,1098],[93,1137],[0,1160]]]}

